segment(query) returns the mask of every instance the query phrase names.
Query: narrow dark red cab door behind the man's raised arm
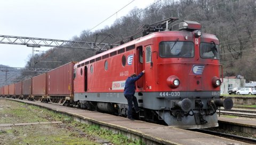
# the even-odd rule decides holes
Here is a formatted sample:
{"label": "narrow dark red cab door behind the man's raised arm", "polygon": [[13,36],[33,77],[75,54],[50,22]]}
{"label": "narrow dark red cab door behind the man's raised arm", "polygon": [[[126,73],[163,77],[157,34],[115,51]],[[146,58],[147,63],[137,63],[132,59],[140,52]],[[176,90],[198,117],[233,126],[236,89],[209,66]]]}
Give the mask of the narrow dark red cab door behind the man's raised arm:
{"label": "narrow dark red cab door behind the man's raised arm", "polygon": [[[143,70],[143,50],[142,50],[142,46],[138,46],[136,49],[136,74],[139,74],[142,70]],[[138,79],[136,81],[136,86],[138,89],[143,89],[143,80],[144,77],[142,76],[142,78]]]}

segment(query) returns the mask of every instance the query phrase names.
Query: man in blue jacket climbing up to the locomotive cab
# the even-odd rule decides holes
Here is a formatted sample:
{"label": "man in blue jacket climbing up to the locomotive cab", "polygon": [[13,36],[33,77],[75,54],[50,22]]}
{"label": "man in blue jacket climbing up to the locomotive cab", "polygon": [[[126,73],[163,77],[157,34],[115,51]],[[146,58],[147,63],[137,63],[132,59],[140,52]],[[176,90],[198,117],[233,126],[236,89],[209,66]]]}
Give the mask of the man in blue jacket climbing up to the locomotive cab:
{"label": "man in blue jacket climbing up to the locomotive cab", "polygon": [[[137,76],[136,74],[132,74],[130,77],[128,77],[125,81],[125,86],[124,86],[124,96],[127,99],[128,102],[128,116],[127,118],[134,120],[132,118],[132,106],[134,104],[134,108],[136,112],[139,112],[140,109],[138,107],[138,101],[135,94],[135,82],[136,80],[140,79],[141,76],[145,73],[145,70],[140,72],[140,74]],[[132,103],[133,102],[133,103]]]}

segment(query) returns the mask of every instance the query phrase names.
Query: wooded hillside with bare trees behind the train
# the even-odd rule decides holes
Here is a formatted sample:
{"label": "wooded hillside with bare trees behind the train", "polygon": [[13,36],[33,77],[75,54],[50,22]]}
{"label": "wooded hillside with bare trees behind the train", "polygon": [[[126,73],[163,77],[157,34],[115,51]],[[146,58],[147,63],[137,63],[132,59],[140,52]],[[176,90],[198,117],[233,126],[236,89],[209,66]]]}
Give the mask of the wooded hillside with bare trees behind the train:
{"label": "wooded hillside with bare trees behind the train", "polygon": [[[125,17],[117,19],[113,25],[104,29],[84,30],[72,40],[94,42],[95,34],[111,34],[102,43],[119,43],[136,34],[137,29],[145,24],[154,23],[170,17],[197,21],[202,24],[202,31],[216,35],[220,40],[221,59],[224,76],[245,76],[247,81],[256,80],[255,58],[255,0],[162,0],[149,4],[147,9],[135,7]],[[141,37],[141,33],[135,38]],[[101,41],[102,38],[99,38]],[[79,49],[53,48],[34,57],[35,68],[56,68],[70,61],[81,61],[95,55],[95,51]],[[43,62],[43,61],[61,62]],[[27,62],[30,67],[31,61]],[[22,75],[28,75],[23,72]],[[31,74],[29,74],[31,75]],[[35,75],[35,74],[34,74]]]}

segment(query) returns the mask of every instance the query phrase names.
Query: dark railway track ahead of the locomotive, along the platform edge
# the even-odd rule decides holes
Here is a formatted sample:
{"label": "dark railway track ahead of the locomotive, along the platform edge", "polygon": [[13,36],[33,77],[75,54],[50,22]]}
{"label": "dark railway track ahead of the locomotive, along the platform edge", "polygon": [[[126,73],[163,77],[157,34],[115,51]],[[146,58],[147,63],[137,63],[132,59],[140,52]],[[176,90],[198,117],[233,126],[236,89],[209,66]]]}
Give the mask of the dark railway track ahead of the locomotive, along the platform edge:
{"label": "dark railway track ahead of the locomotive, along the platform edge", "polygon": [[216,135],[216,136],[220,136],[220,137],[223,137],[223,138],[242,141],[242,142],[246,142],[246,143],[256,144],[256,139],[246,138],[246,137],[243,137],[243,136],[237,136],[237,135],[233,135],[233,134],[227,134],[227,133],[221,133],[221,132],[215,132],[215,131],[209,131],[209,130],[202,130],[202,129],[195,129],[195,130],[192,130],[192,131],[211,134],[211,135]]}

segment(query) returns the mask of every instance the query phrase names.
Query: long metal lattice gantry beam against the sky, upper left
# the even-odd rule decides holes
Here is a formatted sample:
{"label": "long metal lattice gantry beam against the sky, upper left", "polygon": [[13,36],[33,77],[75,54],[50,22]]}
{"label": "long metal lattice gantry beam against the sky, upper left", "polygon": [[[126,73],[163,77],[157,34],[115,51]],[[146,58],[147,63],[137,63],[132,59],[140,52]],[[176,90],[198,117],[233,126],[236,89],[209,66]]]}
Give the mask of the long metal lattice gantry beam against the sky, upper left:
{"label": "long metal lattice gantry beam against the sky, upper left", "polygon": [[74,49],[91,49],[91,50],[109,50],[111,46],[118,46],[117,44],[96,43],[96,42],[78,42],[66,41],[60,39],[47,39],[47,38],[33,38],[33,37],[20,37],[0,35],[0,44],[16,44],[27,45],[30,47],[61,47],[61,48],[74,48]]}

